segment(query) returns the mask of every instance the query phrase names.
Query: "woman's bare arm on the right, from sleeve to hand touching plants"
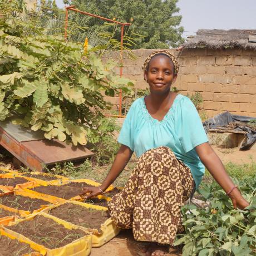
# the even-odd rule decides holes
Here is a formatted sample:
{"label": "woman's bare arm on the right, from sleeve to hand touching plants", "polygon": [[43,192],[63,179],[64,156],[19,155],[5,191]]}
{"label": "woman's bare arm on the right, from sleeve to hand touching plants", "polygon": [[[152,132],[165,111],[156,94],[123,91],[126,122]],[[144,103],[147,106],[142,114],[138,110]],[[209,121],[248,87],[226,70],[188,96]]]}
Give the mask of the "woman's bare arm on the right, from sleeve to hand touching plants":
{"label": "woman's bare arm on the right, from sleeve to hand touching plants", "polygon": [[[216,155],[210,144],[205,142],[196,146],[195,150],[213,178],[219,183],[226,193],[229,193],[229,191],[234,188],[235,184],[232,179],[230,179],[223,164],[221,163],[221,160],[219,159],[219,156]],[[235,209],[244,209],[249,205],[248,201],[243,198],[238,189],[233,189],[229,194],[229,197],[231,198]]]}

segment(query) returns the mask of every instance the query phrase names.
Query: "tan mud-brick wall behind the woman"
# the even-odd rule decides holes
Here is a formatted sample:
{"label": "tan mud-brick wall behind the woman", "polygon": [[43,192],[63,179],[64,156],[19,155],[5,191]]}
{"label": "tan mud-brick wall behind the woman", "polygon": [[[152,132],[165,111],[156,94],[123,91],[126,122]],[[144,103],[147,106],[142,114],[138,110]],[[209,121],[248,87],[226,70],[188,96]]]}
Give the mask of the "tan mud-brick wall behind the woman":
{"label": "tan mud-brick wall behind the woman", "polygon": [[[141,67],[152,51],[134,50],[135,61],[124,58],[124,76],[135,80],[135,88],[147,87]],[[178,56],[180,64],[174,86],[183,95],[200,92],[204,99],[201,107],[208,117],[223,111],[256,117],[256,52],[235,48],[170,52]],[[118,104],[117,98],[109,100]]]}

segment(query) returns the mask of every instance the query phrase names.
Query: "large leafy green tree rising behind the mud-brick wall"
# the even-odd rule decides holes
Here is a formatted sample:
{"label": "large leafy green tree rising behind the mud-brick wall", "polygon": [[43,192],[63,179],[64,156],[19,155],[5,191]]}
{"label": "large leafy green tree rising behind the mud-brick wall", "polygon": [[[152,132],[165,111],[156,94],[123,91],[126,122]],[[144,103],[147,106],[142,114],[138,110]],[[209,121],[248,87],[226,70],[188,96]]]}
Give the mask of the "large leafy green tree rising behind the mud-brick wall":
{"label": "large leafy green tree rising behind the mud-brick wall", "polygon": [[[131,22],[125,33],[131,38],[130,48],[170,48],[183,42],[179,27],[181,16],[176,7],[178,0],[71,0],[77,9],[94,13],[121,22]],[[88,27],[101,26],[100,19],[90,18]],[[120,26],[116,28],[115,38],[120,40]],[[110,30],[109,30],[110,31]],[[140,36],[139,36],[140,35]],[[127,45],[129,46],[129,45]]]}

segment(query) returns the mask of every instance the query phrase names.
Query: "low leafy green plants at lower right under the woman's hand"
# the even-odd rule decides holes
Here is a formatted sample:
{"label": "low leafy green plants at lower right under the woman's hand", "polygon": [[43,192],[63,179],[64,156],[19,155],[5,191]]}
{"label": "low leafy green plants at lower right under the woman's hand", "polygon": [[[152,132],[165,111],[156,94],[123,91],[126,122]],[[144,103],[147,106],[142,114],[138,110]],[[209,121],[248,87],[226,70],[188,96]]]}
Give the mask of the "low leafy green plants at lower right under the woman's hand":
{"label": "low leafy green plants at lower right under the woman's hand", "polygon": [[200,209],[186,205],[183,208],[186,233],[178,235],[175,245],[185,244],[184,256],[256,255],[256,175],[234,181],[250,201],[248,210],[234,210],[219,185],[205,184],[199,193],[210,201],[211,206]]}

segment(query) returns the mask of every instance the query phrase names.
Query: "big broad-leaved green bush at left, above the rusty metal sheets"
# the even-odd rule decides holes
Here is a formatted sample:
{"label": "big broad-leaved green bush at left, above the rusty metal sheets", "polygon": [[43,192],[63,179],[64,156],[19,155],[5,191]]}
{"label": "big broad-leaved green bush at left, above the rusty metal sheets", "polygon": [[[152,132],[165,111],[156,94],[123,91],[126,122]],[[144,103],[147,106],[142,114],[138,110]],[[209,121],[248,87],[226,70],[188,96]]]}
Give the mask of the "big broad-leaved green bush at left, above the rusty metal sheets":
{"label": "big broad-leaved green bush at left, above the rusty metal sheets", "polygon": [[116,64],[103,63],[97,48],[83,49],[24,22],[16,1],[1,0],[0,6],[0,120],[85,145],[110,107],[103,94],[127,92],[131,81],[115,75]]}

